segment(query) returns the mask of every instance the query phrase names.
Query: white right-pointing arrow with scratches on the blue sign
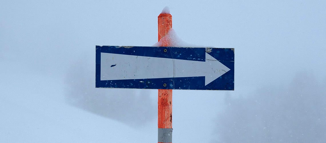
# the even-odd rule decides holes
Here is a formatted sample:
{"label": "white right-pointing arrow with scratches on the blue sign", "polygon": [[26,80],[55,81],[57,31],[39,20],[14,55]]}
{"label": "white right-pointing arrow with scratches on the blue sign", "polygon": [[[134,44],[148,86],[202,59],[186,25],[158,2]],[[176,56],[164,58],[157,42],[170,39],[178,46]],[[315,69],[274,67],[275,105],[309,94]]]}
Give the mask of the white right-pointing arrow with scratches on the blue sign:
{"label": "white right-pointing arrow with scratches on the blue sign", "polygon": [[101,52],[101,80],[205,76],[205,86],[230,69],[206,53],[205,62]]}

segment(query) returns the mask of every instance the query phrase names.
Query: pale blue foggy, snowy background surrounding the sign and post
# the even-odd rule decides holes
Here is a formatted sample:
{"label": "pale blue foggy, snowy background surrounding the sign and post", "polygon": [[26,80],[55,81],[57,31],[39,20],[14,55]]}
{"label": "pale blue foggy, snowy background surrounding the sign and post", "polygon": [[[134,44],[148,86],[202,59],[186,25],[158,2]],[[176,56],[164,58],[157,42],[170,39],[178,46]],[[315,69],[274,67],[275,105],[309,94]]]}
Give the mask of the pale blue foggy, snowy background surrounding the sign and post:
{"label": "pale blue foggy, snowy background surrounding the sign and post", "polygon": [[323,139],[324,1],[5,0],[0,142],[155,142],[157,90],[95,89],[95,45],[152,46],[165,6],[183,41],[235,49],[235,91],[173,91],[173,142]]}

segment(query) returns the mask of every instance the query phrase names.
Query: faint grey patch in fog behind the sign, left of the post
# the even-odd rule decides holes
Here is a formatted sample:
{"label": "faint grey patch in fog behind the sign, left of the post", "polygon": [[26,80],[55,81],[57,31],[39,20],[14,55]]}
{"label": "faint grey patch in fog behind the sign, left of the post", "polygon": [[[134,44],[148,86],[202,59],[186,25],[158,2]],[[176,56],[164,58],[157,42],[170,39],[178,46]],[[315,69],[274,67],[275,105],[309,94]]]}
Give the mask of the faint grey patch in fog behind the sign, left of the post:
{"label": "faint grey patch in fog behind the sign, left of the post", "polygon": [[[72,65],[66,83],[67,102],[82,110],[132,127],[141,126],[157,116],[157,105],[150,97],[156,97],[157,91],[95,88],[95,60],[81,60]],[[153,93],[155,95],[151,95]]]}

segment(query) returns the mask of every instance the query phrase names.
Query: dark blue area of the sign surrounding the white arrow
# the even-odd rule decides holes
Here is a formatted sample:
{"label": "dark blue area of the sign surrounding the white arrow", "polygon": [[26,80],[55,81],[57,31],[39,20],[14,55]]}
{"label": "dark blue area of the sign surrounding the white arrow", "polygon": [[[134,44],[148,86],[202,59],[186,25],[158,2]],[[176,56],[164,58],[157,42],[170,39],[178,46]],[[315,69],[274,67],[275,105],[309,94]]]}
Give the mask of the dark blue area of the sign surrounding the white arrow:
{"label": "dark blue area of the sign surrounding the white arrow", "polygon": [[[230,71],[205,86],[205,77],[101,80],[101,52],[160,57],[192,61],[205,61],[207,48],[191,47],[137,47],[137,46],[96,46],[96,88],[134,89],[182,89],[182,90],[234,90],[234,49],[210,48],[212,57],[227,66]],[[166,50],[166,52],[163,52]],[[167,86],[164,87],[163,84]]]}

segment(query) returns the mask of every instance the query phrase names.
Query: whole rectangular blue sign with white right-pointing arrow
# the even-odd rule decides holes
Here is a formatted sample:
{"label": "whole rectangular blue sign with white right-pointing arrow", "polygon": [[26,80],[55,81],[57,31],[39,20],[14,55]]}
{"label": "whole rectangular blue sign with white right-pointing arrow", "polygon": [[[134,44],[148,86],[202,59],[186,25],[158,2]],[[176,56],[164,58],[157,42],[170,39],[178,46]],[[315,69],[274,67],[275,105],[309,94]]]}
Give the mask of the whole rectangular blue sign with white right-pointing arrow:
{"label": "whole rectangular blue sign with white right-pointing arrow", "polygon": [[234,90],[234,49],[96,46],[96,88]]}

